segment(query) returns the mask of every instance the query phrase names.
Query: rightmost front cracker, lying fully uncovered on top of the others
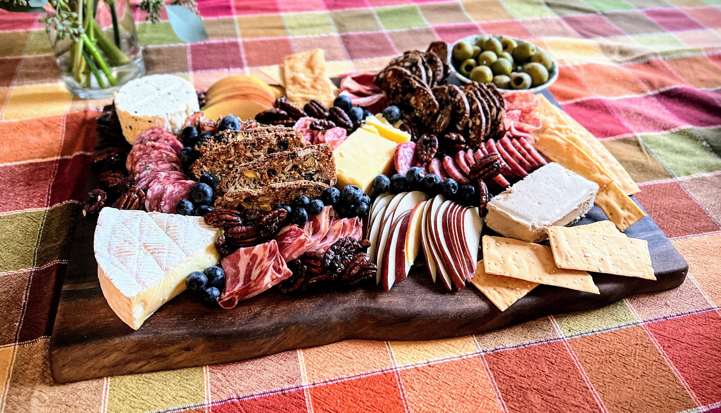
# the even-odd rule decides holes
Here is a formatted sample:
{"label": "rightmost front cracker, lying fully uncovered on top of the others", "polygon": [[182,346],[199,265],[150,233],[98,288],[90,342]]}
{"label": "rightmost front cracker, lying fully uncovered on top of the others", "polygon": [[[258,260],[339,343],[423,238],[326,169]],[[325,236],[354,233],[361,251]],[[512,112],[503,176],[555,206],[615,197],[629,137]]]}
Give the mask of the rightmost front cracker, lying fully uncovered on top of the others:
{"label": "rightmost front cracker, lying fully uncovered on top of the others", "polygon": [[554,262],[560,268],[655,280],[648,242],[603,235],[578,227],[550,227]]}

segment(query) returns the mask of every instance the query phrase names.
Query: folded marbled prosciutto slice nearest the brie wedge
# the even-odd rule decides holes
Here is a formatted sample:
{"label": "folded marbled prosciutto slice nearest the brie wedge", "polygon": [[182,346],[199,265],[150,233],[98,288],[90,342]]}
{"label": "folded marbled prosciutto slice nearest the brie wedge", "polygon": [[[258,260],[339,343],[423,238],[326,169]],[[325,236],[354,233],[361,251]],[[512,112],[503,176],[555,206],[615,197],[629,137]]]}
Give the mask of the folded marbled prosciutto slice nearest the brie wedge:
{"label": "folded marbled prosciutto slice nearest the brie wedge", "polygon": [[223,258],[221,266],[226,286],[218,304],[224,309],[234,308],[238,301],[256,296],[293,275],[275,240],[240,248]]}

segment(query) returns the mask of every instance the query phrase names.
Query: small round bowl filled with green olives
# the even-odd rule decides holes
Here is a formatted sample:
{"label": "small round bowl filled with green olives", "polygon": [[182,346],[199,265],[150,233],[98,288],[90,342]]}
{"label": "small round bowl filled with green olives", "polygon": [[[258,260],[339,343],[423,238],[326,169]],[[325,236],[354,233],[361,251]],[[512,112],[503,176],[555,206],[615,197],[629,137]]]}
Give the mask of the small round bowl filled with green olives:
{"label": "small round bowl filled with green olives", "polygon": [[461,83],[494,83],[502,91],[540,91],[558,78],[558,66],[547,51],[516,37],[497,35],[456,41],[451,71]]}

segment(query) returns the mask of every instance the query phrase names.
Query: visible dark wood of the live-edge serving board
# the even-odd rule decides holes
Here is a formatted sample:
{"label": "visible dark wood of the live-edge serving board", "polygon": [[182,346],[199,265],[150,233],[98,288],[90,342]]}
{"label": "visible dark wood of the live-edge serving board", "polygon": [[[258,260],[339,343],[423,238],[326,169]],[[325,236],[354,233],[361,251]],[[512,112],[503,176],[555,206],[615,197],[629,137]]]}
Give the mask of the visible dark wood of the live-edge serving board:
{"label": "visible dark wood of the live-edge serving board", "polygon": [[[91,173],[89,189],[96,182]],[[596,206],[578,224],[603,219]],[[478,334],[671,289],[688,271],[653,219],[645,217],[626,234],[648,241],[658,280],[592,273],[600,295],[538,286],[500,312],[474,286],[448,293],[430,283],[425,268],[416,266],[387,293],[368,287],[286,296],[270,289],[225,310],[205,308],[184,292],[133,331],[112,312],[100,290],[92,245],[95,224],[95,217],[81,217],[77,224],[50,340],[50,371],[59,383],[227,363],[346,339],[432,340]]]}

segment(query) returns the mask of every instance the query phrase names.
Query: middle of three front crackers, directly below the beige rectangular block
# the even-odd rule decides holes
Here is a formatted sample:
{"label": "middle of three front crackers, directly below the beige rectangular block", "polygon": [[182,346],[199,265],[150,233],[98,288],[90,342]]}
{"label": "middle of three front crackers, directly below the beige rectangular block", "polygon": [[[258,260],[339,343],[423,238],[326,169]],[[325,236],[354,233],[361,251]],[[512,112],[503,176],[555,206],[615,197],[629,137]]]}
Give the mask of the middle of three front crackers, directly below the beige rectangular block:
{"label": "middle of three front crackers, directly below the beige rectangular block", "polygon": [[558,268],[546,245],[484,235],[483,263],[497,276],[600,294],[589,273]]}

